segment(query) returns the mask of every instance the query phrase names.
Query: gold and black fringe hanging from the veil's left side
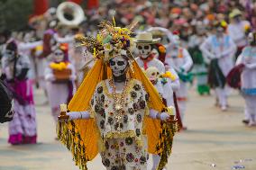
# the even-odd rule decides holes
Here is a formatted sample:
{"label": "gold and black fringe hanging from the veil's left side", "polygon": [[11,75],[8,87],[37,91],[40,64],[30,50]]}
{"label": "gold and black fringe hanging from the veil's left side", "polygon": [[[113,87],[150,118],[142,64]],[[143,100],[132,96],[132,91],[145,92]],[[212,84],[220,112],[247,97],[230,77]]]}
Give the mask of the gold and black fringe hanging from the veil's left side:
{"label": "gold and black fringe hanging from the veil's left side", "polygon": [[76,166],[81,170],[87,170],[87,153],[74,121],[59,122],[57,125],[59,141],[72,153]]}

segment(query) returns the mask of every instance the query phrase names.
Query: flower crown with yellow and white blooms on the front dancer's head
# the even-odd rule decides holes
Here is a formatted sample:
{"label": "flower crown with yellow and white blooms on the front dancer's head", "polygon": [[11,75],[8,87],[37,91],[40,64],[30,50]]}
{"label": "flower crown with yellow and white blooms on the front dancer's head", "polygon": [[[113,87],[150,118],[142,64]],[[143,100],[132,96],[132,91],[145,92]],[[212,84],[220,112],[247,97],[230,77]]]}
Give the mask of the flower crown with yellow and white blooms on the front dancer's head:
{"label": "flower crown with yellow and white blooms on the front dancer's head", "polygon": [[86,46],[87,50],[96,58],[108,62],[116,55],[128,55],[133,50],[134,43],[131,34],[137,22],[125,28],[115,27],[111,22],[101,22],[96,37],[78,35],[75,40],[79,46]]}

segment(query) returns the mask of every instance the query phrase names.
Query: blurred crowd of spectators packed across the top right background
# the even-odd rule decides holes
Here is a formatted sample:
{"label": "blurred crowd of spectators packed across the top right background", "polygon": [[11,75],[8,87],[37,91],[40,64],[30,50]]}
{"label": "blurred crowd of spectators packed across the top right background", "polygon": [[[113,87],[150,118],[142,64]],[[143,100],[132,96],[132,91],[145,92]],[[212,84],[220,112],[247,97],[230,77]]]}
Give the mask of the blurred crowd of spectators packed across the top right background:
{"label": "blurred crowd of spectators packed across the top right background", "polygon": [[[230,14],[234,9],[242,12],[242,18],[256,27],[256,3],[251,0],[112,0],[103,2],[96,10],[86,11],[87,33],[96,30],[101,20],[112,20],[124,26],[133,21],[139,22],[139,29],[160,26],[170,31],[178,31],[181,40],[188,40],[189,35],[197,33],[199,25],[206,33],[218,21],[231,22]],[[199,29],[199,31],[202,31]]]}

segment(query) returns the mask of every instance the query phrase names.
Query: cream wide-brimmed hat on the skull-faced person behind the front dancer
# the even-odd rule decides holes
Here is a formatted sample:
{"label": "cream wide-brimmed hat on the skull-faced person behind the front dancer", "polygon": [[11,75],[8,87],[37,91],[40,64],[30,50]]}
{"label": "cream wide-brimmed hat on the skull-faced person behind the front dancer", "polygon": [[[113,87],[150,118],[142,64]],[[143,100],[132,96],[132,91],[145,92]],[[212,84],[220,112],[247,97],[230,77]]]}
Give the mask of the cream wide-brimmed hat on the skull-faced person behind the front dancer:
{"label": "cream wide-brimmed hat on the skull-faced person behind the front dancer", "polygon": [[136,39],[134,40],[134,42],[137,44],[155,44],[155,43],[158,43],[159,41],[160,41],[160,38],[153,39],[151,32],[139,33]]}

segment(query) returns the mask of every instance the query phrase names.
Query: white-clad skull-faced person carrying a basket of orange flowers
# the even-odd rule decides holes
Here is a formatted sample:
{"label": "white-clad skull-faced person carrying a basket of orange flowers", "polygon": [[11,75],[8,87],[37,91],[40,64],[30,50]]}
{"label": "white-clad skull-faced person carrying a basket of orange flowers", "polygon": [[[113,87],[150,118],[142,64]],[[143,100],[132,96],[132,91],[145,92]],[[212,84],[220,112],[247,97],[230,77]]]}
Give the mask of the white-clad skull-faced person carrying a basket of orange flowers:
{"label": "white-clad skull-faced person carrying a basket of orange flowers", "polygon": [[75,67],[69,62],[68,47],[61,44],[53,51],[52,62],[45,68],[46,90],[54,121],[58,121],[59,104],[69,103],[75,93]]}

